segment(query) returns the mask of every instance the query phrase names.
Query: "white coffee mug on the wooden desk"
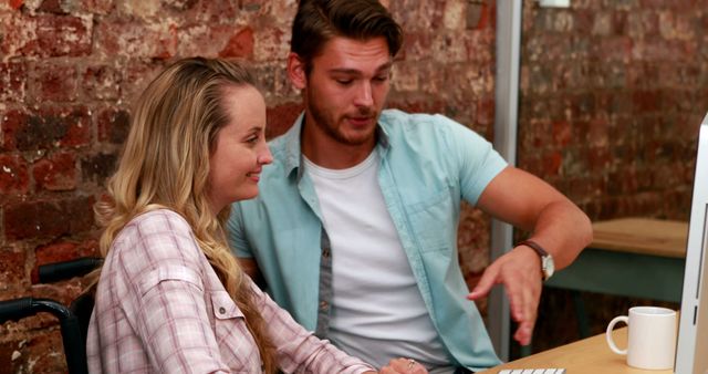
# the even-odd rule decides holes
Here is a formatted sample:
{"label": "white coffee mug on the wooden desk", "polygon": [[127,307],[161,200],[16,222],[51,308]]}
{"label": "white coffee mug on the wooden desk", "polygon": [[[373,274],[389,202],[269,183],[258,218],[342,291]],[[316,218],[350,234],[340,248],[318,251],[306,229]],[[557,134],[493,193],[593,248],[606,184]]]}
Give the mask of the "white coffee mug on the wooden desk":
{"label": "white coffee mug on the wooden desk", "polygon": [[[617,322],[629,330],[627,349],[620,350],[612,337]],[[605,332],[610,349],[627,356],[627,365],[646,370],[674,367],[676,353],[676,311],[658,307],[629,308],[629,316],[615,316]]]}

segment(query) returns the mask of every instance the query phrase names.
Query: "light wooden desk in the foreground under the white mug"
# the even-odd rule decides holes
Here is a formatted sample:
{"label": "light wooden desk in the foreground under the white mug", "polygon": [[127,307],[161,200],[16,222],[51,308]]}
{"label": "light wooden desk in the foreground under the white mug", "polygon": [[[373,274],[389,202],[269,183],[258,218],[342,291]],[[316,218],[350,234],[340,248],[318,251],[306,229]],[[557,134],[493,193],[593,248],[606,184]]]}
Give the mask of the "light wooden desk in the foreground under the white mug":
{"label": "light wooden desk in the foreground under the white mug", "polygon": [[[620,347],[627,346],[627,328],[613,332]],[[587,337],[571,344],[537,353],[528,357],[499,365],[478,374],[496,374],[502,368],[565,368],[568,374],[673,374],[673,370],[648,371],[626,364],[626,356],[610,351],[605,334]]]}

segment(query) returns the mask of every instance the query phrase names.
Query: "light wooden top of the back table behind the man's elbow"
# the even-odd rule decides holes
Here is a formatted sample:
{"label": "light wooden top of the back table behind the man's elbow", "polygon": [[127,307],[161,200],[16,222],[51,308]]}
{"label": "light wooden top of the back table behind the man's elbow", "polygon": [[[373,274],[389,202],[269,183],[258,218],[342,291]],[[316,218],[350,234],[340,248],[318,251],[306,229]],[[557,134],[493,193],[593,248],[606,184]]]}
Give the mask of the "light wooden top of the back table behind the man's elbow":
{"label": "light wooden top of the back table behind the man's elbow", "polygon": [[652,218],[618,218],[593,224],[592,248],[662,257],[686,257],[688,224]]}

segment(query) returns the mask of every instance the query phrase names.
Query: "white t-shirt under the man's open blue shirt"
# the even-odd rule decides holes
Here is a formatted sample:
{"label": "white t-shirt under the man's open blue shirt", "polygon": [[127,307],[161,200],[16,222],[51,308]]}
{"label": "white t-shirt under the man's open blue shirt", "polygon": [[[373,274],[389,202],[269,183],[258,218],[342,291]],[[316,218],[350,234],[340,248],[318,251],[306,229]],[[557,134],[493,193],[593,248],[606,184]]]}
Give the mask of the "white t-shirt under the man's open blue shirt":
{"label": "white t-shirt under the man's open blue shirt", "polygon": [[[375,150],[347,169],[326,169],[304,158],[331,243],[327,337],[377,366],[402,356],[427,367],[449,365],[386,210],[379,164]],[[446,368],[441,373],[452,372]]]}

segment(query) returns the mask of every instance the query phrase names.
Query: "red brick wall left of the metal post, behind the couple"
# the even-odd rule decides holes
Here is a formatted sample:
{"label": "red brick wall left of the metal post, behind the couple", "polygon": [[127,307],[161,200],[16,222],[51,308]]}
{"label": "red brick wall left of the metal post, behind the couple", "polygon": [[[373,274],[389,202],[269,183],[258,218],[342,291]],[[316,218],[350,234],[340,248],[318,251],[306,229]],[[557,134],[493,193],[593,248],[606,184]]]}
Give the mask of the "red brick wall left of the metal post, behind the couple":
{"label": "red brick wall left of the metal post, behind the couple", "polygon": [[[38,264],[94,253],[91,206],[111,175],[136,94],[166,63],[251,61],[269,136],[301,110],[283,71],[293,0],[0,0],[0,300],[69,302],[79,280],[32,285]],[[392,105],[442,112],[489,134],[493,9],[467,1],[385,1],[407,29]],[[469,274],[485,263],[485,219],[465,212]],[[473,256],[473,253],[481,253]],[[0,326],[0,372],[63,366],[53,318]]]}

